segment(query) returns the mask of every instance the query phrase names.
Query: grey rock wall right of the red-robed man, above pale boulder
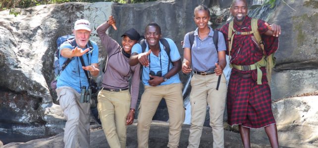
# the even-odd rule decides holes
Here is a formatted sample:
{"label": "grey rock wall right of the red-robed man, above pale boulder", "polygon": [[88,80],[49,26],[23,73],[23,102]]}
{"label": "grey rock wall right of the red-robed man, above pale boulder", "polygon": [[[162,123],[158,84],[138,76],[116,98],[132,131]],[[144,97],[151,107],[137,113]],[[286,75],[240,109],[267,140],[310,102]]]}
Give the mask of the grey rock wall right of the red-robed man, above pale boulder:
{"label": "grey rock wall right of the red-robed man, above pale boulder", "polygon": [[[281,25],[276,66],[272,75],[272,99],[318,90],[318,1],[276,0],[269,6],[251,10],[249,15]],[[295,11],[294,11],[295,10]]]}

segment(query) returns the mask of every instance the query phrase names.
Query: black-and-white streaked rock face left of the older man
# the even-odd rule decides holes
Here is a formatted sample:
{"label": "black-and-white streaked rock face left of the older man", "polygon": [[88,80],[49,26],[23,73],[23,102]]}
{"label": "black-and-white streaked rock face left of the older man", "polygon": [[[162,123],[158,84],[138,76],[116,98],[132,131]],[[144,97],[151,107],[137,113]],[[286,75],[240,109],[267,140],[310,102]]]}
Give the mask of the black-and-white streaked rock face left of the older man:
{"label": "black-and-white streaked rock face left of the older man", "polygon": [[31,140],[63,132],[65,119],[53,104],[56,94],[48,85],[53,79],[55,40],[71,34],[80,18],[94,22],[92,39],[99,40],[95,29],[105,19],[98,16],[110,15],[111,4],[41,5],[21,9],[17,17],[0,12],[0,112],[6,112],[0,114],[4,127],[0,138],[4,143],[19,139],[17,135]]}

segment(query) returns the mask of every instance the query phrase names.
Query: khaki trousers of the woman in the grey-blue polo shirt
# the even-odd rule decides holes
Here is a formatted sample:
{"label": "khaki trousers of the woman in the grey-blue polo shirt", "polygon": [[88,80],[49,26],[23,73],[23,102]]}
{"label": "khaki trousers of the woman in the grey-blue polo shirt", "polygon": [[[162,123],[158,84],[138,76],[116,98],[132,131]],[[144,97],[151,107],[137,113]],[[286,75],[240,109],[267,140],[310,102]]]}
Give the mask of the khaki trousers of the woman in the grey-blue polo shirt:
{"label": "khaki trousers of the woman in the grey-blue polo shirt", "polygon": [[213,148],[224,148],[223,113],[226,100],[226,80],[222,74],[216,90],[218,75],[194,74],[191,79],[191,127],[188,148],[199,148],[207,105],[210,107],[210,126],[213,134]]}

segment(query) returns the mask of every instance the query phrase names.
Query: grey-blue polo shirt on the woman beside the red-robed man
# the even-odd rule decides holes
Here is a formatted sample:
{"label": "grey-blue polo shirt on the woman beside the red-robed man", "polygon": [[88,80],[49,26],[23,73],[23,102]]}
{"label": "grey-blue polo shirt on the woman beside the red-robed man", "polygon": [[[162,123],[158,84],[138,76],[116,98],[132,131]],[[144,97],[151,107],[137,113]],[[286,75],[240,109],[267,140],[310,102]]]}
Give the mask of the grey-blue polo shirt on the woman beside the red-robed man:
{"label": "grey-blue polo shirt on the woman beside the red-robed man", "polygon": [[[209,71],[215,68],[215,63],[218,62],[217,51],[213,42],[213,30],[210,27],[210,33],[208,37],[201,39],[198,36],[198,28],[194,31],[194,42],[192,48],[190,48],[189,34],[184,36],[183,48],[191,49],[191,64],[193,71]],[[225,51],[226,45],[223,34],[218,32],[218,51]]]}

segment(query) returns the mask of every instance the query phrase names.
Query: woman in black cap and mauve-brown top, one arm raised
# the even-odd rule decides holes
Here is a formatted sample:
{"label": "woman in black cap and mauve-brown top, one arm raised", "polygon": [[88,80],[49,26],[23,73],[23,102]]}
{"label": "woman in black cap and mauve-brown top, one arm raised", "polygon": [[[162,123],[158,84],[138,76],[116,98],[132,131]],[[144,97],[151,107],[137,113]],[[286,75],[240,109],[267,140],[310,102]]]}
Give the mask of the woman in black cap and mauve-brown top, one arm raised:
{"label": "woman in black cap and mauve-brown top, one arm raised", "polygon": [[[121,36],[120,46],[106,34],[113,24],[115,20],[109,16],[108,21],[97,28],[107,52],[103,89],[98,94],[97,109],[110,148],[125,148],[126,129],[134,121],[140,82],[140,65],[129,66],[129,57],[140,35],[135,29],[129,29]],[[132,79],[131,93],[128,90],[129,78]]]}

